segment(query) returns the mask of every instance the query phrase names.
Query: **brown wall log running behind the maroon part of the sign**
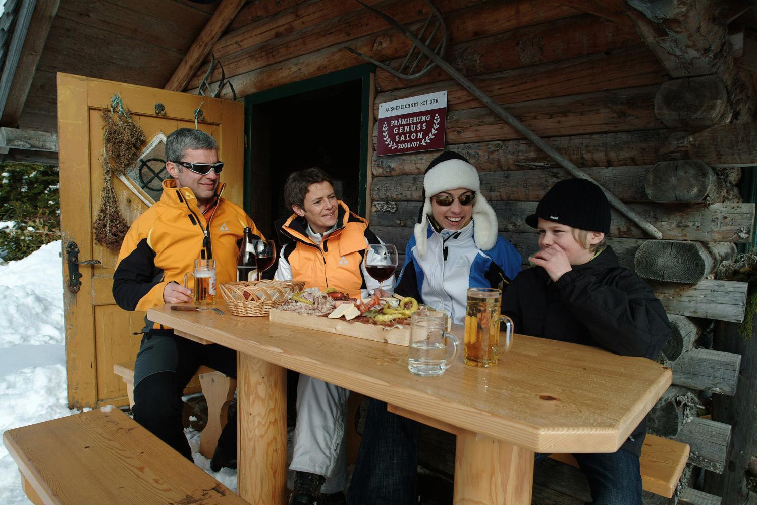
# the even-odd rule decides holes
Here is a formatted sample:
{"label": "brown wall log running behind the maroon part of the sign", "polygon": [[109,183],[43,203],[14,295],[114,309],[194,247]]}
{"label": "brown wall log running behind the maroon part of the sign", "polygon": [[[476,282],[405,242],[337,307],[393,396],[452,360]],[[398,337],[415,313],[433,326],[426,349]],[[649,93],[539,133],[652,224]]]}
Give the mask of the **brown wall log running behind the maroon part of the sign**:
{"label": "brown wall log running behind the maroon part of the sign", "polygon": [[[542,137],[662,128],[652,112],[656,86],[509,104],[507,111]],[[378,121],[373,144],[378,139]],[[524,136],[488,108],[447,113],[447,144],[522,139]]]}

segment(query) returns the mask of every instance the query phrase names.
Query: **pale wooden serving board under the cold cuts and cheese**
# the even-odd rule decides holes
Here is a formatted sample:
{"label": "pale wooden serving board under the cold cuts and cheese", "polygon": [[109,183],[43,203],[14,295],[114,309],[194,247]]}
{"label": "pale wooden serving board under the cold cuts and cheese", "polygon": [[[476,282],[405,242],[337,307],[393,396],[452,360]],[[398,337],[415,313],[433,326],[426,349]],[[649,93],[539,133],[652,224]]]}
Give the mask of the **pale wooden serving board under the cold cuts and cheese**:
{"label": "pale wooden serving board under the cold cuts and cheese", "polygon": [[316,329],[319,332],[337,333],[338,335],[365,338],[366,340],[405,347],[410,345],[410,325],[403,326],[402,329],[384,329],[384,326],[348,323],[342,318],[329,319],[326,316],[307,316],[277,308],[271,309],[271,323],[300,326],[301,328]]}

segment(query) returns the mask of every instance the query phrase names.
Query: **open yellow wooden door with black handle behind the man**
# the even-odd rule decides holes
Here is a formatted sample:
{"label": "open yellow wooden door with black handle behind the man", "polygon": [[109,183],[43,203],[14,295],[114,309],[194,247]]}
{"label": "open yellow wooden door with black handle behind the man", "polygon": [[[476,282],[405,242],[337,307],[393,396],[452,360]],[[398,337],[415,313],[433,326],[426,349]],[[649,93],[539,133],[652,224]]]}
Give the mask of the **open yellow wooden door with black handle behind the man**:
{"label": "open yellow wooden door with black handle behind the man", "polygon": [[[109,108],[116,93],[142,127],[148,144],[161,133],[194,128],[195,109],[201,108],[198,128],[217,140],[219,157],[226,162],[224,197],[241,205],[244,191],[245,112],[241,102],[58,73],[66,367],[72,408],[126,404],[126,388],[113,373],[113,365],[134,360],[139,336],[132,333],[144,326],[144,313],[126,312],[115,304],[111,286],[118,254],[95,242],[92,235],[103,188],[101,111]],[[163,104],[165,115],[156,114],[156,104]],[[115,177],[113,185],[121,215],[132,223],[148,206]],[[67,287],[66,249],[70,242],[78,245],[80,261],[101,261],[79,267],[81,287],[76,294]]]}

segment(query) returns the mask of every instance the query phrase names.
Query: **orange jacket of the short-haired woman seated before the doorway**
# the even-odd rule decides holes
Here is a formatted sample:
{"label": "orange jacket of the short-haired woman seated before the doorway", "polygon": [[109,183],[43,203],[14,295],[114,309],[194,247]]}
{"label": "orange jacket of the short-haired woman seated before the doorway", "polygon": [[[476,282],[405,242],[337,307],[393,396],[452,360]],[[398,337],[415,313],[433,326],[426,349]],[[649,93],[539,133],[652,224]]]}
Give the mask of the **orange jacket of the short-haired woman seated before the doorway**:
{"label": "orange jacket of the short-haired woman seated before the doorway", "polygon": [[305,288],[324,291],[335,288],[352,298],[361,298],[366,279],[361,265],[368,244],[378,244],[378,237],[368,227],[368,221],[350,212],[338,201],[337,229],[326,235],[317,245],[307,235],[307,220],[292,214],[284,223],[281,234],[282,260],[291,267],[291,278],[305,283]]}

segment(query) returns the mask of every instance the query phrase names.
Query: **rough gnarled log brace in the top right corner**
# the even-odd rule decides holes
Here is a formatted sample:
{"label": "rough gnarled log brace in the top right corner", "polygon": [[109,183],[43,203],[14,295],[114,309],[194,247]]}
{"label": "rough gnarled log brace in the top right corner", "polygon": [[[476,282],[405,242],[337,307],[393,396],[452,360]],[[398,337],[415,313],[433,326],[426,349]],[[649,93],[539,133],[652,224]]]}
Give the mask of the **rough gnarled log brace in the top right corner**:
{"label": "rough gnarled log brace in the top right corner", "polygon": [[[751,120],[754,83],[740,73],[729,41],[727,22],[734,14],[733,2],[628,0],[628,4],[637,32],[670,76],[712,76],[723,81],[725,104],[717,123]],[[695,84],[682,86],[696,96]]]}

